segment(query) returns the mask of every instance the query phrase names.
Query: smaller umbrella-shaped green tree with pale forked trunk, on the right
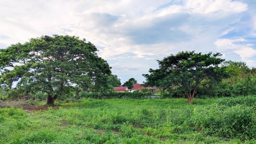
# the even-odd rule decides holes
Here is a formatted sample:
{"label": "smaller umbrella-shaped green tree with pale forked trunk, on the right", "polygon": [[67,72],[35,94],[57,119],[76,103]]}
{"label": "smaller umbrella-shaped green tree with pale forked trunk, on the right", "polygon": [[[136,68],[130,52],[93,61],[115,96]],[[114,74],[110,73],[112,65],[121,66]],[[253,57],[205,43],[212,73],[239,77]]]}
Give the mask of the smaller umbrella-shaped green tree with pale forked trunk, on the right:
{"label": "smaller umbrella-shaped green tree with pale forked trunk, on the right", "polygon": [[194,51],[171,54],[161,61],[157,60],[159,69],[150,69],[150,74],[143,74],[146,78],[145,85],[183,93],[191,104],[199,86],[228,77],[226,67],[219,67],[224,61],[220,56],[220,53],[202,54]]}

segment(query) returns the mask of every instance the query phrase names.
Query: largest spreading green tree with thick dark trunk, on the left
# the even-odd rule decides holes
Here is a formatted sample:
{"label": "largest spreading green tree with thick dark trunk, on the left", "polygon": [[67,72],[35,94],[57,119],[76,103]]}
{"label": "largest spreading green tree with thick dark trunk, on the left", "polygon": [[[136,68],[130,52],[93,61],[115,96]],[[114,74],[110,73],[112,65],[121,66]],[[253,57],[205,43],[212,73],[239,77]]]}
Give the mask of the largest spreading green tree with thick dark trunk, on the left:
{"label": "largest spreading green tree with thick dark trunk, on the left", "polygon": [[0,49],[0,84],[20,95],[42,91],[47,103],[79,89],[102,91],[111,67],[96,47],[75,36],[42,36]]}

